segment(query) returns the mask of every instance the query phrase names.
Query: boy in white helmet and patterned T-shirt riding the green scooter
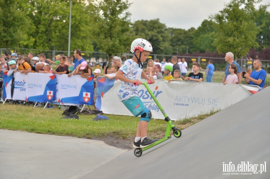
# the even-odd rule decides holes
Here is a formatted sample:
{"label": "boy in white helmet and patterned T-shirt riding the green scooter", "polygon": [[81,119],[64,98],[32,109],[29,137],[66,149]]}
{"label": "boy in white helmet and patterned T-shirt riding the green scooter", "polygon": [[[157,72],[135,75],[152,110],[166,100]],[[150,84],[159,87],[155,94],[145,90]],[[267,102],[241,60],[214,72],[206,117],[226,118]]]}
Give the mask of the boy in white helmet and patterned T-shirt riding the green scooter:
{"label": "boy in white helmet and patterned T-shirt riding the green scooter", "polygon": [[152,52],[152,45],[145,39],[135,39],[131,43],[130,51],[134,56],[126,60],[116,73],[116,78],[122,81],[118,97],[135,117],[141,116],[133,147],[144,148],[158,140],[151,140],[147,137],[148,122],[152,117],[152,113],[140,99],[138,86],[134,85],[134,82],[140,85],[142,77],[151,81],[151,84],[155,83],[155,79],[149,78],[142,69],[143,62],[146,61],[150,52]]}

